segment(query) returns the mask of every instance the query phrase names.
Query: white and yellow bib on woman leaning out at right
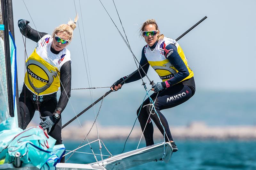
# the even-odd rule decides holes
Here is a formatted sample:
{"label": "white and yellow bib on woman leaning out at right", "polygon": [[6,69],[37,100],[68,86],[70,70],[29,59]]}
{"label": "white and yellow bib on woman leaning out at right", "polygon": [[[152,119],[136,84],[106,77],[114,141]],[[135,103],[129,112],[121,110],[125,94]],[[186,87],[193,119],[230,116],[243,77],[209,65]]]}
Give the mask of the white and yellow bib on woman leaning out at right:
{"label": "white and yellow bib on woman leaning out at right", "polygon": [[175,74],[177,74],[178,70],[173,67],[172,63],[164,56],[164,49],[169,44],[173,44],[177,47],[177,51],[189,71],[188,77],[184,78],[182,81],[192,78],[194,76],[194,73],[188,66],[187,57],[183,53],[183,50],[181,49],[179,43],[171,38],[164,37],[163,39],[160,39],[157,42],[156,47],[153,51],[151,51],[148,45],[145,46],[144,53],[148,60],[148,63],[157,72],[157,74],[163,81],[166,81],[172,78]]}

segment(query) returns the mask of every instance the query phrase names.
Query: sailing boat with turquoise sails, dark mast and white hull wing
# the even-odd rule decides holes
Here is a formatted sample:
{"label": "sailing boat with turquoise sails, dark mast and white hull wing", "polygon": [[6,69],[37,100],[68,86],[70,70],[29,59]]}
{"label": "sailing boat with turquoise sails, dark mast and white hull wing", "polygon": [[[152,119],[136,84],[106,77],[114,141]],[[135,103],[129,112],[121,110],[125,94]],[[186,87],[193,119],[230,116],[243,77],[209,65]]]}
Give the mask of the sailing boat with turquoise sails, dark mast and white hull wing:
{"label": "sailing boat with turquoise sails, dark mast and white hull wing", "polygon": [[7,9],[11,5],[11,1],[1,0],[0,159],[5,158],[5,163],[0,165],[0,169],[55,169],[55,166],[57,169],[67,170],[127,169],[150,161],[169,162],[172,147],[169,143],[161,143],[111,156],[91,164],[58,163],[64,154],[63,144],[54,145],[55,139],[48,136],[39,126],[26,130],[20,129],[17,116],[16,47],[12,37],[14,33],[9,32],[9,24],[13,26],[13,19],[11,22],[7,19],[10,14]]}

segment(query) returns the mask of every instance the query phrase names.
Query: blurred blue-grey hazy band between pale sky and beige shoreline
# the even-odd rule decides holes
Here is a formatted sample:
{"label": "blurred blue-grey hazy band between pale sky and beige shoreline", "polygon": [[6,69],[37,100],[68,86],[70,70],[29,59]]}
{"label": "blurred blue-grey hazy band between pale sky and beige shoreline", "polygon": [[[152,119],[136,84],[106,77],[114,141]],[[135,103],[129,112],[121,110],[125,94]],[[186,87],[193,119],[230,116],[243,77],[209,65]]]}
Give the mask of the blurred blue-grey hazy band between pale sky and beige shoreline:
{"label": "blurred blue-grey hazy band between pale sky and beige shoreline", "polygon": [[[108,89],[95,89],[93,91],[94,101],[107,91]],[[143,88],[139,90],[130,89],[130,86],[110,93],[103,100],[97,118],[98,123],[102,126],[132,127],[137,117],[136,111],[142,103],[144,96],[145,91]],[[80,126],[80,123],[84,124],[86,121],[94,121],[94,114],[97,115],[100,103],[95,105],[95,109],[90,108],[78,119],[70,123],[70,126]],[[62,123],[68,122],[91,104],[89,91],[72,91],[68,105],[61,114]],[[95,110],[95,113],[93,110]],[[161,112],[166,117],[170,128],[186,126],[191,122],[205,122],[209,126],[255,126],[256,91],[225,92],[200,91],[199,89],[185,103],[170,109],[164,109]],[[39,124],[40,119],[37,111],[32,121]],[[138,121],[136,126],[140,126]]]}

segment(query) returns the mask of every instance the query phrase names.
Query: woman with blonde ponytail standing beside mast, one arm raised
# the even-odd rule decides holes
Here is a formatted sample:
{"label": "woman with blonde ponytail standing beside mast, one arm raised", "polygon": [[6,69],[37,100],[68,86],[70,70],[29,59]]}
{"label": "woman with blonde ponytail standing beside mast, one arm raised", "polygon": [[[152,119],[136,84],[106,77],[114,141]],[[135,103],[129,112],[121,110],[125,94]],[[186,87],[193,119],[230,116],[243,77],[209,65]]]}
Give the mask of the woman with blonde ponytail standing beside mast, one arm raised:
{"label": "woman with blonde ponytail standing beside mast, one arm raised", "polygon": [[[22,35],[35,41],[36,48],[26,60],[24,85],[20,94],[20,127],[26,129],[38,110],[41,127],[61,144],[61,112],[71,94],[71,58],[66,48],[76,28],[75,21],[56,27],[52,35],[32,29],[25,19],[18,21]],[[60,87],[60,98],[57,91]],[[64,159],[61,161],[63,162]]]}

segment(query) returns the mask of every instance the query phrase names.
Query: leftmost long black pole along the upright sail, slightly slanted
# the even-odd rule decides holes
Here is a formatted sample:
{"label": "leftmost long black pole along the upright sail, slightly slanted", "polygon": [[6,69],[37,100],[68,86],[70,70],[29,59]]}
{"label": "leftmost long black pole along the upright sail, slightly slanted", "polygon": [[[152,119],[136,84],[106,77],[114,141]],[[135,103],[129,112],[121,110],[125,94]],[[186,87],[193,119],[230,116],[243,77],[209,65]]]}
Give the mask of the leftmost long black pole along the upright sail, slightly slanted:
{"label": "leftmost long black pole along the upright sail, slightly slanted", "polygon": [[4,25],[4,54],[5,54],[5,66],[6,66],[6,80],[7,80],[7,96],[9,105],[9,114],[14,116],[13,107],[13,95],[12,95],[12,72],[11,72],[11,55],[9,45],[9,24],[7,14],[7,1],[1,0],[1,11]]}

